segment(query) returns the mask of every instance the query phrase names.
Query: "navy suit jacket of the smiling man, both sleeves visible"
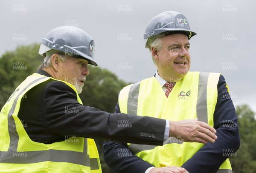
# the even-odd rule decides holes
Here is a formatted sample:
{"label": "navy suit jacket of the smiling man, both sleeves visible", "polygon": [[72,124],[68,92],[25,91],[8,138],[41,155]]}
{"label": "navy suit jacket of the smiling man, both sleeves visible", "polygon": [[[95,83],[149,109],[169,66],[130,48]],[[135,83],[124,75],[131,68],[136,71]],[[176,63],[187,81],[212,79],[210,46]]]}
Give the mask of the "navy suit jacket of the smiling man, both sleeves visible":
{"label": "navy suit jacket of the smiling man, both sleeves visible", "polygon": [[[120,112],[120,109],[117,103],[115,113],[118,112]],[[233,122],[235,125],[223,125],[228,122]],[[189,173],[211,173],[214,171],[216,173],[221,164],[227,159],[227,157],[223,156],[223,150],[230,149],[231,153],[231,151],[236,152],[239,149],[240,136],[236,111],[222,75],[218,81],[218,100],[214,112],[214,128],[217,130],[218,139],[214,143],[208,142],[181,166],[188,170]],[[127,156],[116,157],[118,151],[125,151]],[[105,141],[103,152],[106,164],[116,173],[144,173],[148,167],[153,166],[131,153],[126,143]],[[229,154],[226,156],[229,156]]]}

